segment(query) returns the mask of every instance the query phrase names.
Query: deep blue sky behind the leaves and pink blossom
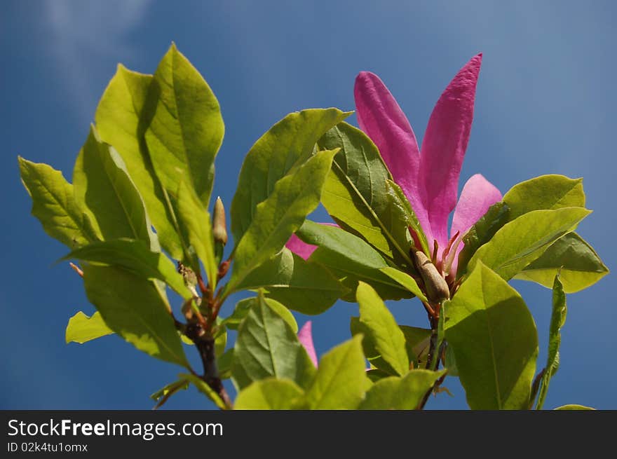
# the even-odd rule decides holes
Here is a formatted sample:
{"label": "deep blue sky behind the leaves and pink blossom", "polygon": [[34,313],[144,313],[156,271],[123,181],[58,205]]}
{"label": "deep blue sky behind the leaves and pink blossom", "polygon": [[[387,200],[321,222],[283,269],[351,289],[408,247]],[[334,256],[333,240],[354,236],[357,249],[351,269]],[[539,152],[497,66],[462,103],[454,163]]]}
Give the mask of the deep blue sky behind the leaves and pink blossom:
{"label": "deep blue sky behind the leaves and pink blossom", "polygon": [[[148,396],[179,369],[117,336],[64,343],[68,318],[93,311],[67,249],[30,216],[17,155],[72,175],[97,100],[116,64],[151,73],[171,41],[215,91],[226,124],[215,193],[231,203],[245,153],[273,123],[309,107],[353,109],[361,70],[381,76],[421,140],[456,71],[484,53],[461,186],[480,172],[502,192],[541,174],[584,177],[594,210],[578,232],[617,266],[613,143],[617,93],[611,1],[4,1],[0,14],[0,409],[149,409]],[[351,118],[355,123],[355,118]],[[318,212],[315,219],[326,216]],[[546,407],[617,409],[614,275],[568,296],[561,368]],[[543,365],[550,291],[525,282]],[[240,298],[240,297],[238,297]],[[236,299],[238,299],[236,298]],[[227,311],[233,306],[227,305]],[[418,301],[389,303],[423,326]],[[357,306],[313,318],[318,354],[349,336]],[[297,316],[299,324],[306,317]],[[539,369],[539,368],[538,368]],[[464,409],[456,379],[428,408]],[[168,402],[208,409],[195,390]]]}

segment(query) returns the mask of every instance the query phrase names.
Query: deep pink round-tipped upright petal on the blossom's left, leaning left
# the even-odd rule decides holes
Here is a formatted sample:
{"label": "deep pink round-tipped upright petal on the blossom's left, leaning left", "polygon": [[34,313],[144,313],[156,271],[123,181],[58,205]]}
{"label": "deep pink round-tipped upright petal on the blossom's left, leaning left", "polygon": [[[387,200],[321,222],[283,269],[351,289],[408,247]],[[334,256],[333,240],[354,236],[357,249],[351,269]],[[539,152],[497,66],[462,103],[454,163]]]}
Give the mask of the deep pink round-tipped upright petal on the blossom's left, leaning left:
{"label": "deep pink round-tipped upright petal on the blossom's left, leaning left", "polygon": [[360,129],[377,145],[428,237],[430,224],[418,191],[420,153],[412,126],[379,76],[361,71],[355,78],[353,95]]}

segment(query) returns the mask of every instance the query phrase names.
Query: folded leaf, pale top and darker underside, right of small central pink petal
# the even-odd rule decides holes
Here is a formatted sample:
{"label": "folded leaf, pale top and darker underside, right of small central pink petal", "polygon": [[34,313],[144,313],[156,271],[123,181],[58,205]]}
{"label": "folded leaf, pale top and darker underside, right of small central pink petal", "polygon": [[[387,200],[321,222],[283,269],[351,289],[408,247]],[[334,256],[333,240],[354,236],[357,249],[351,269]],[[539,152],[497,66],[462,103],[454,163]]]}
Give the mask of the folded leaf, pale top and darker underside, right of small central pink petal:
{"label": "folded leaf, pale top and darker underside, right of small central pink petal", "polygon": [[411,295],[400,283],[380,271],[388,263],[384,258],[358,236],[337,226],[317,224],[305,220],[296,232],[307,244],[317,245],[318,249],[309,261],[327,267],[346,285],[349,292],[344,299],[355,302],[355,289],[358,282],[366,282],[383,299],[409,298]]}

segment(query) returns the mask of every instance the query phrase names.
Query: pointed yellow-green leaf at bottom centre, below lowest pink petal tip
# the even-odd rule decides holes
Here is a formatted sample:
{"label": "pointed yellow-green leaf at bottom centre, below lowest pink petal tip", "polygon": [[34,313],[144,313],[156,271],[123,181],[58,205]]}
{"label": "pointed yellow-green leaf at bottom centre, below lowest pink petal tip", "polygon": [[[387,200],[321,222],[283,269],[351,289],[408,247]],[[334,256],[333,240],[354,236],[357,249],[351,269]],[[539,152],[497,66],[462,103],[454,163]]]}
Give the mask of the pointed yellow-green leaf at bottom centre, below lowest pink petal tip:
{"label": "pointed yellow-green leaf at bottom centre, below lowest pink petal tip", "polygon": [[320,359],[315,380],[306,390],[306,409],[357,409],[367,388],[362,337],[338,345]]}

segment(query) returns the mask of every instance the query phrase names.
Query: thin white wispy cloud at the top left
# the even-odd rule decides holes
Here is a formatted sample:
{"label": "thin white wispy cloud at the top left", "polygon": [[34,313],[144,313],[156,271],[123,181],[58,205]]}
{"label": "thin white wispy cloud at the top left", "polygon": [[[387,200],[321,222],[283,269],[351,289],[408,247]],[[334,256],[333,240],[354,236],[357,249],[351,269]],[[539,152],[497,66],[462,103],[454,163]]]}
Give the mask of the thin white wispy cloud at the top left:
{"label": "thin white wispy cloud at the top left", "polygon": [[74,95],[80,116],[92,116],[100,95],[99,75],[109,75],[110,64],[135,52],[129,35],[144,19],[150,1],[46,1],[50,55],[55,57],[57,76]]}

